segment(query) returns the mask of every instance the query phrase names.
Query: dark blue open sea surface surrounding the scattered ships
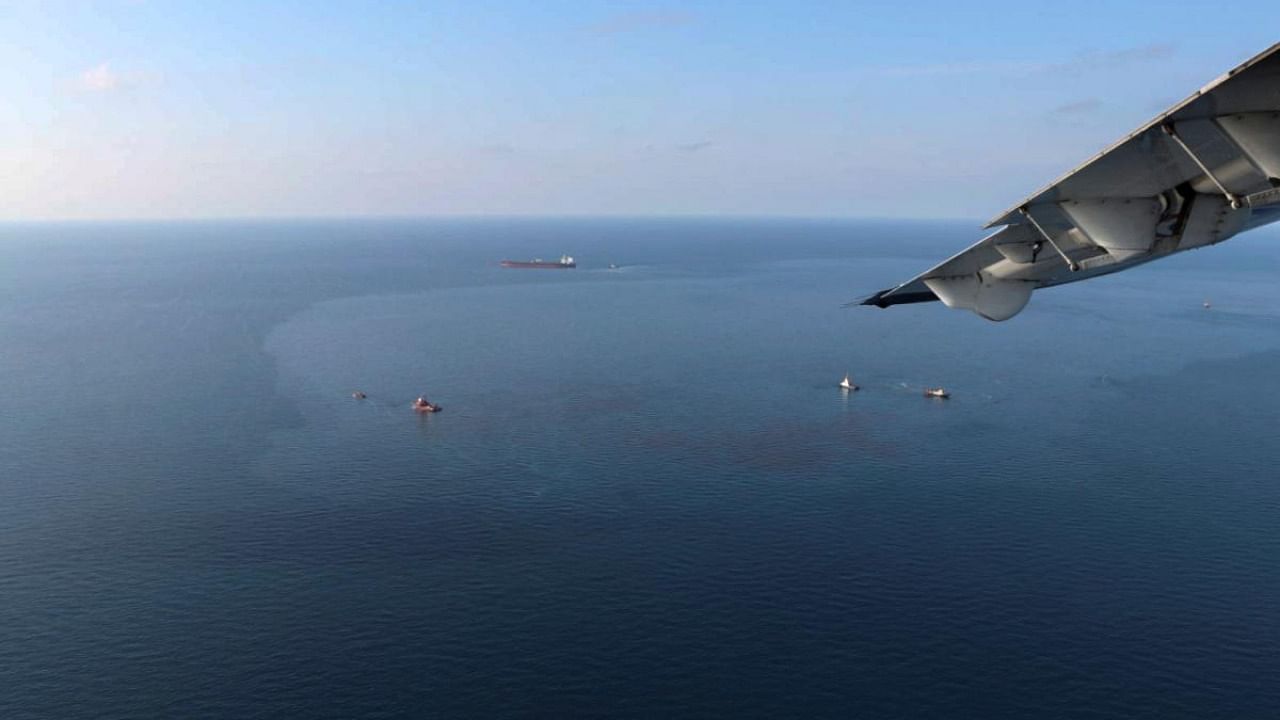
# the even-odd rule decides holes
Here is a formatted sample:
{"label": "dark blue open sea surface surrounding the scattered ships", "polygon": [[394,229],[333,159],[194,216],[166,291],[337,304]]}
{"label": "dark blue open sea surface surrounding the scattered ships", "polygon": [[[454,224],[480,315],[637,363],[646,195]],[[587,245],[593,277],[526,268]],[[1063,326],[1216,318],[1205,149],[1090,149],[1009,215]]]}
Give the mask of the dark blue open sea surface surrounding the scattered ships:
{"label": "dark blue open sea surface surrounding the scattered ships", "polygon": [[0,717],[1274,716],[1280,234],[977,234],[4,225]]}

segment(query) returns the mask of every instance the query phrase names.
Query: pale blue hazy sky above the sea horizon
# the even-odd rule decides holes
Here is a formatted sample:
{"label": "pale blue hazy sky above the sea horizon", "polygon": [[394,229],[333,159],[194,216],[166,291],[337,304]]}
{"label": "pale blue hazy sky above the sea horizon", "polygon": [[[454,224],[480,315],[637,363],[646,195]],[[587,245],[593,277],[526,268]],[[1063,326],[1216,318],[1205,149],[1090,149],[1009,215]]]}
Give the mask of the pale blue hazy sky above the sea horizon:
{"label": "pale blue hazy sky above the sea horizon", "polygon": [[1277,40],[1180,5],[0,3],[0,219],[987,219]]}

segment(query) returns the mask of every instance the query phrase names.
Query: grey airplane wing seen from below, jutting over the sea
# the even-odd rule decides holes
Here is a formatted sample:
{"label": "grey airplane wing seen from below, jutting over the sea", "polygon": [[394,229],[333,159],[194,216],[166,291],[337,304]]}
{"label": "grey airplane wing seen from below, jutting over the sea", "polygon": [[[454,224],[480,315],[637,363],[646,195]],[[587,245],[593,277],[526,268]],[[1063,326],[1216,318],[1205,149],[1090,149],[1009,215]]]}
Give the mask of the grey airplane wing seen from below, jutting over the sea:
{"label": "grey airplane wing seen from below, jutting over the sea", "polygon": [[987,223],[995,232],[851,305],[941,300],[1007,320],[1032,291],[1280,219],[1280,44]]}

